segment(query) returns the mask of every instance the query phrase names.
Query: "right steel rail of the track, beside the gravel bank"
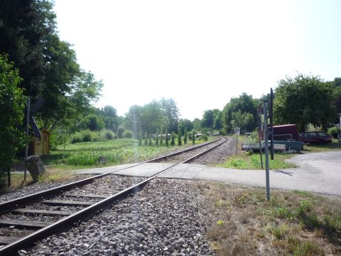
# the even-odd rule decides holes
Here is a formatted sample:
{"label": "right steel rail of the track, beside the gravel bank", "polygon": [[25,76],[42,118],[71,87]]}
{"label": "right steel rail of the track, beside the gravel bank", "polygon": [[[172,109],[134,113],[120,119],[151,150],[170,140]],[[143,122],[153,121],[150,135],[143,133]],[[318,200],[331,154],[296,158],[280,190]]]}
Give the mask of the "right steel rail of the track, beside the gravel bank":
{"label": "right steel rail of the track, beside the gravel bank", "polygon": [[[147,178],[146,180],[141,181],[133,186],[130,186],[129,188],[126,188],[124,191],[120,191],[114,194],[113,196],[110,196],[108,198],[103,199],[102,201],[94,203],[92,206],[84,208],[80,210],[79,212],[74,213],[65,218],[62,218],[58,220],[57,222],[51,225],[48,225],[45,228],[37,230],[36,232],[31,233],[30,235],[27,235],[26,237],[21,238],[20,240],[17,240],[16,242],[13,242],[9,245],[2,247],[0,249],[0,255],[14,255],[18,252],[18,250],[21,250],[22,248],[25,248],[25,247],[29,247],[38,240],[47,238],[49,235],[60,233],[63,230],[66,230],[67,228],[69,228],[70,226],[72,227],[72,226],[77,225],[77,223],[80,223],[81,221],[89,220],[94,215],[97,215],[98,213],[102,212],[102,210],[110,208],[113,203],[118,203],[119,201],[123,200],[124,198],[127,198],[128,196],[134,195],[137,191],[143,188],[146,185],[146,183],[153,180],[153,178],[156,178],[160,176],[161,174],[164,174],[166,171],[169,171],[180,164],[185,164],[188,161],[191,161],[197,158],[198,156],[201,156],[202,154],[205,154],[208,151],[215,149],[217,146],[220,146],[226,141],[227,139],[225,139],[223,142],[220,142],[220,144],[212,146],[210,149],[206,149],[205,151],[202,151],[199,154],[196,154],[195,156],[192,156],[189,159],[186,159],[185,161],[181,161],[178,164],[173,164],[172,166],[169,166],[163,171],[159,171],[157,174],[154,174],[153,176]],[[217,142],[217,140],[215,142]]]}

